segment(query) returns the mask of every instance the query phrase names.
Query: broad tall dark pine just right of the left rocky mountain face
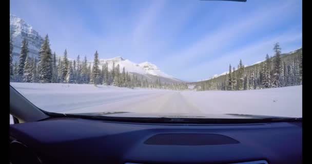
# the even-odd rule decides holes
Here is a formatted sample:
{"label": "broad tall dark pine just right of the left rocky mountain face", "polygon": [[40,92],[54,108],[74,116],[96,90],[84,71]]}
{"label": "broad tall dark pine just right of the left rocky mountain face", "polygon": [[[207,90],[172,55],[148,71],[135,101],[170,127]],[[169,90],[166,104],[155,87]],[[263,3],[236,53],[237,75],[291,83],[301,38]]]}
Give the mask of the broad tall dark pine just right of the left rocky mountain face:
{"label": "broad tall dark pine just right of the left rocky mountain face", "polygon": [[44,43],[39,51],[40,54],[40,83],[51,83],[52,81],[52,53],[50,49],[48,34],[45,37]]}

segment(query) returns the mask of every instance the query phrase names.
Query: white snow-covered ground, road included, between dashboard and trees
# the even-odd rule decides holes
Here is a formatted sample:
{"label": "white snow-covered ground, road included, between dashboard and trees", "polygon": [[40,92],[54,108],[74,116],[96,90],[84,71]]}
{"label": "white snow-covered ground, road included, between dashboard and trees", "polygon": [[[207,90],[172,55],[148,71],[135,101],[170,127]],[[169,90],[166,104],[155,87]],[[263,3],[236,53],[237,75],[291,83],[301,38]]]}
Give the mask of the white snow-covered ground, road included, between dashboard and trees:
{"label": "white snow-covered ground, road included, between dashboard and trees", "polygon": [[11,85],[37,107],[58,113],[123,111],[302,117],[302,86],[248,91],[170,91],[84,84]]}

